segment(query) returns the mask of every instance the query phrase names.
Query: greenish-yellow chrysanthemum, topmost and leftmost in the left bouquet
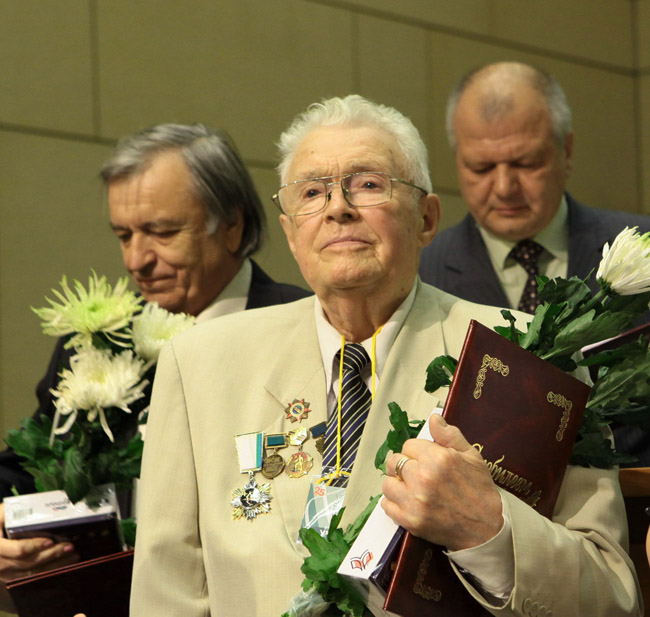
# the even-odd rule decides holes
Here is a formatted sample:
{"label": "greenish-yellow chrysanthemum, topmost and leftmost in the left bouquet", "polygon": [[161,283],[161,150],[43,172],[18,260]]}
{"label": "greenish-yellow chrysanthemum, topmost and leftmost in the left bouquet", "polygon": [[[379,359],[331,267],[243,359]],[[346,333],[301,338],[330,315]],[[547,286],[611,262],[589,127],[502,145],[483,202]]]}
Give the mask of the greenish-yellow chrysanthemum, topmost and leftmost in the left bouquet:
{"label": "greenish-yellow chrysanthemum, topmost and leftmost in the left bouquet", "polygon": [[50,336],[64,336],[75,333],[66,347],[88,347],[94,332],[104,332],[115,343],[117,338],[128,338],[119,330],[126,328],[133,315],[140,310],[135,293],[127,289],[128,277],[118,280],[113,289],[93,271],[88,279],[88,290],[77,280],[74,290],[64,276],[61,280],[63,293],[56,289],[52,293],[59,302],[45,298],[50,307],[32,310],[41,318],[43,332]]}

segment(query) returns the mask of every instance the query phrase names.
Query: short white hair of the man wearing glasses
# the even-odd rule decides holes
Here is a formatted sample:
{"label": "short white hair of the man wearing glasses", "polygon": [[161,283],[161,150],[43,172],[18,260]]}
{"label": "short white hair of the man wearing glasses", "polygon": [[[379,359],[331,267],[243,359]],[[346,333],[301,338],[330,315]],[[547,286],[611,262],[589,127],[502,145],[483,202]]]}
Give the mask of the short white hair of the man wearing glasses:
{"label": "short white hair of the man wearing glasses", "polygon": [[382,129],[397,142],[404,155],[404,178],[432,191],[427,148],[413,123],[392,107],[373,103],[358,94],[313,103],[298,115],[278,141],[280,182],[287,181],[293,157],[305,137],[322,126],[370,126]]}

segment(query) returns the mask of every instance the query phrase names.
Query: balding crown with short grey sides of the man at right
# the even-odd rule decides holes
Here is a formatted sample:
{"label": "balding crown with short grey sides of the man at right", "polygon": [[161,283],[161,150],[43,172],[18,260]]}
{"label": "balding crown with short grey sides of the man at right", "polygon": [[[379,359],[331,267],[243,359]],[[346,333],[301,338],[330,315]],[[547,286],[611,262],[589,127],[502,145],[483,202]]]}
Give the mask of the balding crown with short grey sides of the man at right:
{"label": "balding crown with short grey sides of the man at right", "polygon": [[497,62],[470,71],[458,82],[447,102],[447,137],[456,149],[456,118],[461,103],[481,121],[493,123],[511,115],[522,105],[542,110],[551,131],[564,146],[572,132],[571,109],[556,79],[520,62]]}

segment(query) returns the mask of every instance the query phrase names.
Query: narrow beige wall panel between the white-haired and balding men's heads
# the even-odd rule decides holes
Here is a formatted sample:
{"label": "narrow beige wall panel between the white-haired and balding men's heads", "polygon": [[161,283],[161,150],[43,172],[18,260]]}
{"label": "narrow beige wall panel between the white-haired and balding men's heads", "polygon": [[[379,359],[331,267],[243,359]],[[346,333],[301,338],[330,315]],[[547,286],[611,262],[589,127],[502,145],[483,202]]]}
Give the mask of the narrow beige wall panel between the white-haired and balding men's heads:
{"label": "narrow beige wall panel between the white-haired and balding men's heads", "polygon": [[430,147],[428,37],[423,28],[359,20],[359,93],[406,114]]}

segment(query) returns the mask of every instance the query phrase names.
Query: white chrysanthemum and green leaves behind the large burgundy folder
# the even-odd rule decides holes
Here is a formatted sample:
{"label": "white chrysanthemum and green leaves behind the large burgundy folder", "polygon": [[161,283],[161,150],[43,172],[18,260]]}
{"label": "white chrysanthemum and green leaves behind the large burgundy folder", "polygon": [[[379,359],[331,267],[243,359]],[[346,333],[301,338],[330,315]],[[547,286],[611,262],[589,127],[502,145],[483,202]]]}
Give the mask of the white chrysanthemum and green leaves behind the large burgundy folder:
{"label": "white chrysanthemum and green leaves behind the large burgundy folder", "polygon": [[[648,310],[650,234],[623,230],[611,247],[605,245],[596,294],[587,284],[590,277],[537,277],[541,304],[526,331],[516,328],[507,310],[501,313],[509,326],[494,330],[564,371],[598,367],[570,463],[609,468],[635,458],[616,452],[604,431],[607,426],[617,422],[650,430],[650,351],[642,337],[586,358],[582,350],[618,336]],[[429,365],[427,392],[450,384],[453,362],[445,356]]]}

